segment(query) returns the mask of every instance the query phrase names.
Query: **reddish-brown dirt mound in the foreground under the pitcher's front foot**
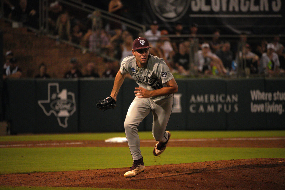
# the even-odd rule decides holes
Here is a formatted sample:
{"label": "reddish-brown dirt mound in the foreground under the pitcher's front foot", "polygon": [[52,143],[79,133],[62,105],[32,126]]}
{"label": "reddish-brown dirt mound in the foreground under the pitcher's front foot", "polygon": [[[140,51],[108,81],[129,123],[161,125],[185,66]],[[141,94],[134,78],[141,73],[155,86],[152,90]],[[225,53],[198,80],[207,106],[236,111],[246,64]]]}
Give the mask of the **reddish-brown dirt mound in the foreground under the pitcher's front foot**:
{"label": "reddish-brown dirt mound in the foreground under the pitcher's front foot", "polygon": [[[285,189],[285,159],[247,159],[126,168],[0,175],[0,185],[131,189]],[[27,180],[28,179],[28,180]]]}

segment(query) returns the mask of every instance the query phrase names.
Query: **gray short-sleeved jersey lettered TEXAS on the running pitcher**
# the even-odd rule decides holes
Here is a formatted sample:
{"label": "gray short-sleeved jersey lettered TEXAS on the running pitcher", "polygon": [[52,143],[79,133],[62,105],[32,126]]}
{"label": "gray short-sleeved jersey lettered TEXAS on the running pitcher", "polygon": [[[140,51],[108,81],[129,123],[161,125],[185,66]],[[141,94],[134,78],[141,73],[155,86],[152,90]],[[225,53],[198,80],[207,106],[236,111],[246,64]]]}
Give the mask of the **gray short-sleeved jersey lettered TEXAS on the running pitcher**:
{"label": "gray short-sleeved jersey lettered TEXAS on the running pitcher", "polygon": [[[145,68],[137,68],[135,56],[126,57],[121,63],[121,73],[130,73],[133,79],[140,87],[147,90],[160,89],[166,87],[166,82],[173,79],[166,62],[162,58],[148,55],[148,62]],[[152,101],[157,102],[166,98],[170,98],[173,94],[165,96],[150,97]]]}

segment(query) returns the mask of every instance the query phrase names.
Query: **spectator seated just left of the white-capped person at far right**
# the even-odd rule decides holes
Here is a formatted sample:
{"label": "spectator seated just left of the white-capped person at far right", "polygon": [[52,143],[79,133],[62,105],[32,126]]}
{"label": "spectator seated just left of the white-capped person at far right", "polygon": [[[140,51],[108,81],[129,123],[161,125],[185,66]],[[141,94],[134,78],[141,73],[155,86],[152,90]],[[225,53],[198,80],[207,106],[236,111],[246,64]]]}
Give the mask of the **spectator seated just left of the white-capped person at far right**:
{"label": "spectator seated just left of the white-capped person at far right", "polygon": [[[238,63],[237,59],[236,62]],[[245,68],[249,68],[251,74],[258,73],[259,57],[257,54],[251,52],[251,46],[249,44],[245,44],[243,50],[239,52],[239,63],[243,63],[242,65],[245,65]]]}

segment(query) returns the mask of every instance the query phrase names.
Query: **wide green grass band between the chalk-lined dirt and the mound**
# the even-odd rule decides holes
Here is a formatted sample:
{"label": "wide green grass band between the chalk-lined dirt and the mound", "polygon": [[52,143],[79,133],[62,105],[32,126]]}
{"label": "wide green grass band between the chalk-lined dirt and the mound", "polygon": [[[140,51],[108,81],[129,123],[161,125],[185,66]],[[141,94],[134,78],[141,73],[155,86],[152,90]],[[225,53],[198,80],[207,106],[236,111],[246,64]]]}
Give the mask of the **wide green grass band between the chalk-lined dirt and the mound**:
{"label": "wide green grass band between the chalk-lined dirt and the mound", "polygon": [[[146,166],[246,158],[285,158],[283,148],[168,147],[159,157],[141,147]],[[127,147],[2,148],[0,174],[130,167]],[[108,157],[106,159],[106,157]]]}

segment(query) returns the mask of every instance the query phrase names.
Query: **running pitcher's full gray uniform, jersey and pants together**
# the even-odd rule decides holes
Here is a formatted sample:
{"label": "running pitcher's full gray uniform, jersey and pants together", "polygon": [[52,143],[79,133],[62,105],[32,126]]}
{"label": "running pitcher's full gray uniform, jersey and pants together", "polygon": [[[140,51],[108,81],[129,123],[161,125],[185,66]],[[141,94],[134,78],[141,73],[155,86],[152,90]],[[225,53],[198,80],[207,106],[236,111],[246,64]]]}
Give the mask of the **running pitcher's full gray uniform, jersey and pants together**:
{"label": "running pitcher's full gray uniform, jersey and pants together", "polygon": [[[165,87],[165,83],[173,79],[173,75],[164,59],[150,54],[148,55],[147,65],[143,68],[137,68],[135,56],[126,57],[121,63],[121,73],[130,73],[137,84],[147,90]],[[166,141],[168,133],[165,132],[165,129],[171,114],[172,103],[173,94],[150,98],[135,97],[124,122],[133,160],[142,157],[137,127],[151,111],[153,113],[152,135],[156,141]]]}

